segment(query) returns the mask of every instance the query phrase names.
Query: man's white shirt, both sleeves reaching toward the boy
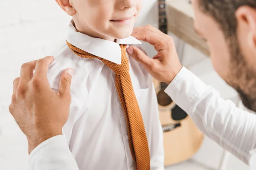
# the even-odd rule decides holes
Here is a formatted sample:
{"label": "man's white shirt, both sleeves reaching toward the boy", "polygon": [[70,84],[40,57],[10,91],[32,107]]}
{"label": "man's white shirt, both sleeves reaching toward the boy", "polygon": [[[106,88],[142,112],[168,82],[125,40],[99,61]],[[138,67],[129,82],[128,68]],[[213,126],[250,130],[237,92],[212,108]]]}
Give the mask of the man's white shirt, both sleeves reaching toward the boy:
{"label": "man's white shirt, both sleeves reaching toward the boy", "polygon": [[[251,170],[256,170],[254,114],[236,108],[230,100],[222,99],[214,88],[205,85],[184,67],[166,88],[166,93],[192,117],[202,132],[244,163],[249,164]],[[64,141],[63,136],[55,136],[40,144],[32,151],[30,164],[35,167],[49,164],[50,167],[53,163],[59,163],[58,166],[65,164],[67,169],[76,170],[77,165],[67,144],[61,145]],[[52,151],[51,147],[56,148]],[[38,161],[42,158],[41,155],[47,155],[51,161],[48,159]]]}

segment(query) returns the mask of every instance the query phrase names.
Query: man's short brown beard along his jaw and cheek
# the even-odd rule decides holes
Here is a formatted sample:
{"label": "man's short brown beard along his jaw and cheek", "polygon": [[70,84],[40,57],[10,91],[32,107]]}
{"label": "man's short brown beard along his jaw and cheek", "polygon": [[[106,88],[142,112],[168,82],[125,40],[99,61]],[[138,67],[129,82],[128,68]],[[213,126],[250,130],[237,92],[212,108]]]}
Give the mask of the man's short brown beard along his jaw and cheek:
{"label": "man's short brown beard along his jaw and cheek", "polygon": [[233,39],[230,48],[230,72],[225,80],[239,93],[244,106],[256,112],[256,70],[249,68],[237,39]]}

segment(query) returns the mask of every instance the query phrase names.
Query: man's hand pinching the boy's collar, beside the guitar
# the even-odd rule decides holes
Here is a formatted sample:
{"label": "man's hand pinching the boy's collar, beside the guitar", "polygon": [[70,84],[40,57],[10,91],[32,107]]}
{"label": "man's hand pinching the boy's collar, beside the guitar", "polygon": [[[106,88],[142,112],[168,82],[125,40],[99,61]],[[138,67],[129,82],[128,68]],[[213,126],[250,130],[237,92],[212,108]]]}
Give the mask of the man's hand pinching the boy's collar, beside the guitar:
{"label": "man's hand pinching the boy's collar, beside the guitar", "polygon": [[142,63],[152,77],[169,84],[182,68],[172,37],[152,26],[134,28],[132,36],[154,45],[158,54],[151,59],[133,46],[127,48],[127,52]]}

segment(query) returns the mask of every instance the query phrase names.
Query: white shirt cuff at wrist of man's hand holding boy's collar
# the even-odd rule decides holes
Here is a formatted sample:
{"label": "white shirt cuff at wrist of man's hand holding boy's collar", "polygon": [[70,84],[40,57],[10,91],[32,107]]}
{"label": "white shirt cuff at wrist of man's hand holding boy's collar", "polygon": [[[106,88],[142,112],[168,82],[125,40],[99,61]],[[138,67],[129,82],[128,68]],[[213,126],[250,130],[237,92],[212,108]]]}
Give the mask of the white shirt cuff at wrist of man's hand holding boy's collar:
{"label": "white shirt cuff at wrist of man's hand holding boy's collar", "polygon": [[183,67],[165,89],[172,100],[185,112],[190,113],[198,96],[208,88],[195,74]]}

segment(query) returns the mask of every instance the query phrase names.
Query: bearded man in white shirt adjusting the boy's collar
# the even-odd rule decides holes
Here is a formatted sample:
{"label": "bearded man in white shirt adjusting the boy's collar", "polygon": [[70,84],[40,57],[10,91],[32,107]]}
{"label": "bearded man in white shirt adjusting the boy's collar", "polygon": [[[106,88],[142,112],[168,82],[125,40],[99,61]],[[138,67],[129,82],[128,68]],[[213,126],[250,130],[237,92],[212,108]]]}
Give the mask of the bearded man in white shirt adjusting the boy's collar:
{"label": "bearded man in white shirt adjusting the boy's collar", "polygon": [[[192,3],[195,30],[207,41],[215,70],[239,92],[244,105],[256,111],[256,1],[192,0]],[[166,93],[201,131],[249,164],[252,170],[256,169],[256,116],[236,108],[231,101],[224,101],[217,91],[182,68],[168,35],[145,26],[135,28],[133,36],[154,45],[158,54],[151,59],[135,47],[128,48],[128,53],[154,78],[169,83]],[[52,58],[48,57],[22,67],[20,79],[14,82],[10,111],[29,140],[32,169],[74,170],[76,162],[61,136],[68,115],[71,76],[64,71],[63,85],[58,94],[53,93],[46,78],[50,62]],[[45,159],[38,159],[39,155],[45,155]]]}

